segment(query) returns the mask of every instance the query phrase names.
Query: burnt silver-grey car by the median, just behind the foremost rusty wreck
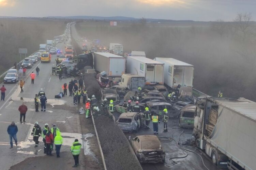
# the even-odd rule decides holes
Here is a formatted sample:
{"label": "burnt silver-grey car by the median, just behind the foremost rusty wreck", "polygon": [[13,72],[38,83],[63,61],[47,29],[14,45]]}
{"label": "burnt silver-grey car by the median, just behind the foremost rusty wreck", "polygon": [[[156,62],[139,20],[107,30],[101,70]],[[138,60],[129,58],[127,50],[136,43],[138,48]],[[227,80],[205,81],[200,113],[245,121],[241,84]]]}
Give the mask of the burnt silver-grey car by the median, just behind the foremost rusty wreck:
{"label": "burnt silver-grey car by the median, just behind the foremost rusty wreck", "polygon": [[140,127],[143,126],[144,118],[143,113],[125,112],[122,113],[116,124],[123,132],[138,132]]}

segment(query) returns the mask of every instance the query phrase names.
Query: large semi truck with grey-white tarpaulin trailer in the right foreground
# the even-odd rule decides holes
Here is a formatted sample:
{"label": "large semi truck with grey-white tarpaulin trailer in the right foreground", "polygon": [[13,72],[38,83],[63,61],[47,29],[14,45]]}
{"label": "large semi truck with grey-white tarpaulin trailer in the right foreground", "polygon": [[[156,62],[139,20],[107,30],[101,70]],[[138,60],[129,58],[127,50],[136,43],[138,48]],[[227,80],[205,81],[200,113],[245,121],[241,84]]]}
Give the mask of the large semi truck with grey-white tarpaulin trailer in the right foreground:
{"label": "large semi truck with grey-white tarpaulin trailer in the right foreground", "polygon": [[196,146],[218,168],[255,170],[256,103],[245,98],[197,99],[193,136]]}

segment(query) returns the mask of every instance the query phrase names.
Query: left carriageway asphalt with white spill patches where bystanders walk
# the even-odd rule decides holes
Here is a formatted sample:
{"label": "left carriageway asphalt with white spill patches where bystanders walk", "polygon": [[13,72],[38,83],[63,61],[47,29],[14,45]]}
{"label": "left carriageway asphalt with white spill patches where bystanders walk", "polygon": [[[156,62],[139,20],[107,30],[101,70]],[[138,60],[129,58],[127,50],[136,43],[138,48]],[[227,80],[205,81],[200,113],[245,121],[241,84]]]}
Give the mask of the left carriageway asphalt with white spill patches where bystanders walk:
{"label": "left carriageway asphalt with white spill patches where bystanders walk", "polygon": [[[56,45],[59,49],[64,50],[64,44],[59,43]],[[73,105],[73,98],[65,96],[61,99],[55,99],[63,83],[69,83],[73,78],[59,80],[58,76],[51,74],[51,67],[55,63],[56,55],[52,55],[50,63],[41,63],[40,61],[31,69],[28,69],[27,75],[24,78],[26,81],[24,85],[24,92],[20,93],[18,84],[4,84],[7,91],[5,95],[5,101],[0,101],[0,169],[28,169],[35,167],[39,170],[45,169],[63,169],[70,170],[74,165],[74,159],[70,153],[70,147],[75,139],[78,139],[82,143],[84,150],[81,150],[80,164],[76,169],[86,169],[85,158],[90,160],[91,164],[97,164],[99,159],[97,155],[97,149],[93,149],[97,146],[96,143],[90,143],[93,139],[96,142],[93,129],[83,127],[84,134],[82,134],[81,120],[84,115],[79,114],[78,109],[83,107],[83,104],[78,106]],[[29,74],[38,66],[40,68],[39,77],[36,77],[34,84],[31,84]],[[2,86],[2,84],[0,84]],[[35,112],[34,97],[38,94],[40,88],[43,88],[46,97],[46,112]],[[28,107],[26,114],[26,123],[19,122],[18,107],[22,102]],[[39,108],[41,110],[41,108]],[[12,122],[18,126],[18,146],[12,149],[10,147],[9,135],[7,134],[7,127]],[[43,129],[44,124],[48,123],[50,128],[52,124],[56,124],[60,128],[61,135],[63,137],[63,145],[61,147],[60,158],[56,157],[55,151],[52,153],[54,156],[50,157],[44,154],[44,144],[42,137],[40,137],[39,147],[34,148],[33,137],[30,135],[31,130],[35,122],[39,122],[39,125]],[[93,145],[93,147],[91,147]],[[95,145],[95,146],[94,146]],[[91,169],[98,169],[93,168]]]}

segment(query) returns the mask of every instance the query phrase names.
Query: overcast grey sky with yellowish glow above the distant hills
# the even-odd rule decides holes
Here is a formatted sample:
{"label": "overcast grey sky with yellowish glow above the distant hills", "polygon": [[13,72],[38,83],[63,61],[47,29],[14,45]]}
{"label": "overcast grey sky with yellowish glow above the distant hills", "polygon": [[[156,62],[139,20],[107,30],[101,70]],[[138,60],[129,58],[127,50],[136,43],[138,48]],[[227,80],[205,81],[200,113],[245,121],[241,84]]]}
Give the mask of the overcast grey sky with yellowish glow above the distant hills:
{"label": "overcast grey sky with yellowish glow above the distant hills", "polygon": [[0,0],[0,16],[126,16],[172,20],[232,21],[256,17],[256,0]]}

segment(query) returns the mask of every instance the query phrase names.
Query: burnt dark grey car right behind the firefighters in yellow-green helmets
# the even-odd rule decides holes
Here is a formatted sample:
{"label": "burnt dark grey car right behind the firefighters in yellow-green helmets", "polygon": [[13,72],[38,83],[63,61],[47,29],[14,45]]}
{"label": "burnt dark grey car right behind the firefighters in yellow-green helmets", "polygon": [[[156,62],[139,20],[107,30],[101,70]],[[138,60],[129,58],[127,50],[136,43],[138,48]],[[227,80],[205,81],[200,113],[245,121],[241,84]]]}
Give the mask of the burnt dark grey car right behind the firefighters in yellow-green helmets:
{"label": "burnt dark grey car right behind the firefighters in yellow-green helmets", "polygon": [[166,102],[147,102],[147,107],[150,111],[155,111],[158,115],[163,115],[163,110],[166,108],[170,118],[179,117],[182,107],[174,106]]}

